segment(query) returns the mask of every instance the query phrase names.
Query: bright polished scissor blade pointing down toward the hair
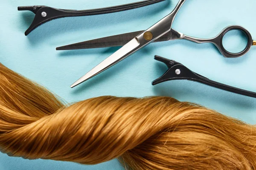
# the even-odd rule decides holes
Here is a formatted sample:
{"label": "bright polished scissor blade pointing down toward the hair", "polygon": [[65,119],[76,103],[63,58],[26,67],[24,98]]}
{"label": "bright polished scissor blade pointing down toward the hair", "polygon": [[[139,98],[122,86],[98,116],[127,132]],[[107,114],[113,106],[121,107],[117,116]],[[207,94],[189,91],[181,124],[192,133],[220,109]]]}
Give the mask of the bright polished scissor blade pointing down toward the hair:
{"label": "bright polished scissor blade pointing down toward the hair", "polygon": [[97,74],[100,74],[102,71],[107,70],[108,68],[112,67],[113,65],[117,64],[118,62],[131,55],[134,51],[136,51],[137,48],[139,48],[139,46],[140,42],[137,40],[137,38],[132,39],[110,57],[106,58],[103,62],[99,63],[99,65],[94,67],[91,71],[89,71],[87,74],[85,74],[75,83],[73,83],[73,85],[71,85],[70,87],[73,88],[81,84],[82,82],[96,76]]}

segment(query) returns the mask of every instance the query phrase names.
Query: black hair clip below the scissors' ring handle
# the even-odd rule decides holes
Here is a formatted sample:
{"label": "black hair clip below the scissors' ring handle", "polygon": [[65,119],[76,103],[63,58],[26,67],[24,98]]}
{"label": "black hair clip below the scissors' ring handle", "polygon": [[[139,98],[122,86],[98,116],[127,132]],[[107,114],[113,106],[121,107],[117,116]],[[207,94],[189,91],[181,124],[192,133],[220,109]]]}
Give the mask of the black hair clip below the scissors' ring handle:
{"label": "black hair clip below the scissors' ring handle", "polygon": [[229,85],[224,85],[222,83],[212,81],[206,77],[201,76],[200,74],[197,74],[189,70],[184,65],[180,64],[179,62],[175,62],[174,60],[166,59],[160,56],[155,56],[154,59],[165,63],[169,68],[169,70],[166,71],[166,73],[162,77],[153,81],[152,85],[157,85],[159,83],[170,81],[170,80],[186,79],[194,82],[200,82],[200,83],[203,83],[215,88],[220,88],[225,91],[230,91],[236,94],[241,94],[244,96],[250,96],[250,97],[256,98],[256,93],[254,92],[246,91],[240,88],[235,88]]}

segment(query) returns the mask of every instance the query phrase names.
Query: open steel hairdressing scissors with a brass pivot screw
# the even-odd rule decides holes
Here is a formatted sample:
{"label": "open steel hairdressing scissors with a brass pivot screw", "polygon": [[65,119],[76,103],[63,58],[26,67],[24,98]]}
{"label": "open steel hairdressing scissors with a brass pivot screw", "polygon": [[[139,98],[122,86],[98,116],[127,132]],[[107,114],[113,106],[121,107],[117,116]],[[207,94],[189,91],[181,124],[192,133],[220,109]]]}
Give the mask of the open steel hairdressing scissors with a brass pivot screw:
{"label": "open steel hairdressing scissors with a brass pivot screw", "polygon": [[[150,44],[151,42],[160,42],[160,41],[169,41],[169,40],[189,40],[196,43],[205,43],[209,42],[214,44],[221,54],[227,58],[236,58],[241,57],[244,54],[247,54],[250,51],[252,45],[256,45],[256,42],[253,41],[252,36],[249,31],[241,26],[229,26],[224,28],[220,34],[218,34],[214,38],[210,39],[199,39],[195,37],[186,36],[178,31],[172,29],[172,23],[175,19],[175,16],[183,3],[186,0],[179,0],[177,6],[174,10],[164,17],[162,20],[151,26],[145,31],[137,31],[127,34],[120,34],[111,37],[105,37],[96,40],[90,40],[86,42],[80,42],[72,45],[66,45],[63,47],[56,48],[57,50],[69,50],[69,49],[83,49],[83,48],[100,48],[100,47],[110,47],[110,46],[119,46],[123,45],[118,51],[112,54],[110,57],[102,61],[99,65],[77,80],[73,85],[70,87],[73,88],[76,85],[81,84],[84,81],[96,76],[97,74],[102,73],[103,71],[107,70],[111,66],[117,64],[118,62],[122,61],[126,57],[134,54],[136,51],[140,50],[141,48],[145,47],[146,45]],[[227,51],[222,43],[224,35],[230,30],[240,30],[242,31],[247,37],[247,45],[243,51],[239,53],[230,53]]]}

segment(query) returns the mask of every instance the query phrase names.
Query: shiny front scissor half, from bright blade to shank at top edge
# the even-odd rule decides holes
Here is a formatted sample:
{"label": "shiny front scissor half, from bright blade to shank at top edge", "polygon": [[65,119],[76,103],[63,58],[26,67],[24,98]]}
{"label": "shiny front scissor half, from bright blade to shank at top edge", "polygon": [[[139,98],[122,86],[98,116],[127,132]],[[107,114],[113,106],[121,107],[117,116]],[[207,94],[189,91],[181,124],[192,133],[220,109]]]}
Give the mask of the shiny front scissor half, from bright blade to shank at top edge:
{"label": "shiny front scissor half, from bright blade to shank at top edge", "polygon": [[[73,88],[76,85],[79,85],[80,83],[96,76],[97,74],[101,73],[102,71],[105,71],[106,69],[110,68],[111,66],[115,65],[116,63],[120,62],[122,59],[125,59],[126,57],[130,56],[134,52],[140,50],[141,48],[145,47],[146,45],[150,44],[157,38],[163,36],[167,32],[171,30],[173,20],[179,11],[180,7],[183,5],[183,3],[186,0],[179,0],[177,3],[177,6],[174,8],[172,13],[164,17],[162,20],[160,20],[158,23],[154,24],[154,26],[151,26],[146,31],[132,39],[130,42],[125,44],[122,48],[120,48],[118,51],[116,51],[114,54],[112,54],[110,57],[105,59],[103,62],[101,62],[99,65],[97,65],[95,68],[93,68],[91,71],[89,71],[87,74],[85,74],[83,77],[81,77],[78,81],[76,81],[73,85],[70,87]],[[145,40],[144,39],[144,33],[150,31],[152,33],[152,39],[151,40]]]}

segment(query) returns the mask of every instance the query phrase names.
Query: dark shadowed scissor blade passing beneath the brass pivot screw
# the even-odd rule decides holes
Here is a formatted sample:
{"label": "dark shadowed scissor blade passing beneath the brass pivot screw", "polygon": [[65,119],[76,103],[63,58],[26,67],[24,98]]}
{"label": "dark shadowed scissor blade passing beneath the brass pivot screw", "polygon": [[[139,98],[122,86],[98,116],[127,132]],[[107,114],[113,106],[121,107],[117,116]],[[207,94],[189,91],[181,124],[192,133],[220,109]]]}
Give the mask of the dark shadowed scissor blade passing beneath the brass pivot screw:
{"label": "dark shadowed scissor blade passing beneath the brass pivot screw", "polygon": [[[98,38],[94,40],[57,47],[56,50],[79,50],[79,49],[89,49],[89,48],[105,48],[105,47],[123,46],[129,41],[131,41],[134,37],[137,37],[143,32],[144,31],[135,31],[135,32],[125,33],[125,34]],[[168,41],[170,37],[170,33],[171,32],[164,34],[162,37],[158,38],[154,42]]]}

